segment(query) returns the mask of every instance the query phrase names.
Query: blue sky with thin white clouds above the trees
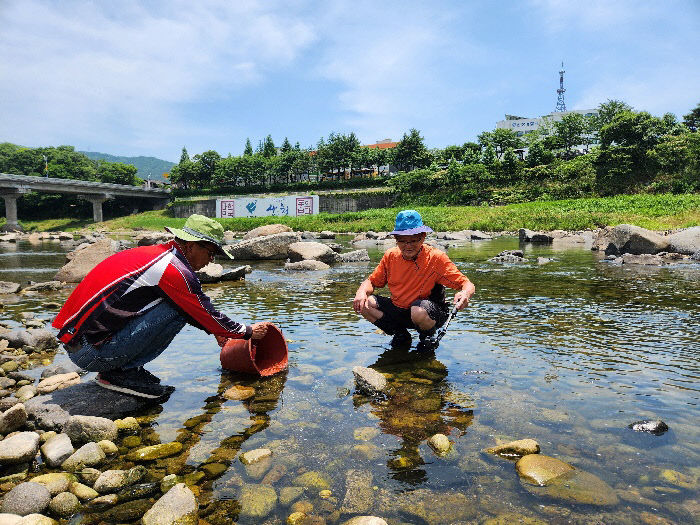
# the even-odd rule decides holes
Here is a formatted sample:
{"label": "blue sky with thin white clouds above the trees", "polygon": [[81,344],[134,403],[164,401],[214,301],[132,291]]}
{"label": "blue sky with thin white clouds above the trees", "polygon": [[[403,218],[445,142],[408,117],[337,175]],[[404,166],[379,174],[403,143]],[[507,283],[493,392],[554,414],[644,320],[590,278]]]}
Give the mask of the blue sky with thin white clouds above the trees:
{"label": "blue sky with thin white clouds above the trees", "polygon": [[0,141],[177,161],[271,134],[475,140],[505,113],[700,103],[700,1],[0,0]]}

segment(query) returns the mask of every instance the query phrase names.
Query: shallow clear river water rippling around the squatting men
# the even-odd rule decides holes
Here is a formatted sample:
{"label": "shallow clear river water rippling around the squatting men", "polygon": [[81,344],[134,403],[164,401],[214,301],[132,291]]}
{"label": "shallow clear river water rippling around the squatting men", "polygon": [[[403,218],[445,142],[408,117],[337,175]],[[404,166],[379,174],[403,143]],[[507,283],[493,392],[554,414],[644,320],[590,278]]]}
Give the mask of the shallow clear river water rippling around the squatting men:
{"label": "shallow clear river water rippling around the squatting men", "polygon": [[[230,523],[244,487],[260,483],[264,467],[246,470],[235,459],[256,448],[273,451],[278,495],[307,485],[294,509],[306,506],[317,520],[309,523],[352,514],[394,524],[498,516],[497,523],[698,523],[700,265],[616,266],[583,247],[532,245],[523,247],[527,264],[487,262],[516,248],[516,238],[502,237],[448,250],[477,293],[428,354],[416,352],[415,341],[411,351],[391,350],[389,337],[352,311],[378,251],[372,263],[322,272],[252,263],[245,282],[205,286],[231,317],[281,327],[289,370],[264,380],[224,372],[214,338],[187,326],[148,367],[175,393],[136,414],[148,423],[144,443],[185,445],[149,466],[153,478],[188,474],[210,523]],[[50,280],[65,251],[59,243],[2,244],[0,280]],[[537,256],[554,260],[538,265]],[[0,317],[12,325],[20,312],[34,311],[48,320],[55,310],[46,311],[44,300],[5,304]],[[355,393],[356,365],[389,374],[393,394]],[[234,384],[253,386],[255,396],[224,399]],[[627,428],[641,419],[662,419],[670,430],[655,436]],[[444,457],[427,444],[438,432],[453,442]],[[538,491],[519,480],[514,461],[483,452],[523,438],[602,480],[618,502],[590,504],[576,487]],[[368,488],[345,503],[361,512],[340,517],[346,490],[358,490],[346,483],[350,470]],[[324,488],[330,497],[319,496]],[[278,502],[265,519],[283,522],[290,512]]]}

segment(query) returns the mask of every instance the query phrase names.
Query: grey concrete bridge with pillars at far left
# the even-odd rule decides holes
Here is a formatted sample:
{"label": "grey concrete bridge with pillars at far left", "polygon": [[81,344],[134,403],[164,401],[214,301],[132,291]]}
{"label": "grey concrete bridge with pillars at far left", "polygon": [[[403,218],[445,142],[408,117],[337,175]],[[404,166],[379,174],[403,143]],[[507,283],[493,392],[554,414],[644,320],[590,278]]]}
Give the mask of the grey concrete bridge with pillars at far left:
{"label": "grey concrete bridge with pillars at far left", "polygon": [[170,199],[169,189],[144,189],[140,186],[88,182],[74,179],[30,177],[0,173],[0,196],[5,200],[5,230],[20,230],[17,222],[17,199],[25,193],[72,193],[92,203],[95,222],[102,222],[102,203],[114,197],[147,198],[155,201],[154,209],[162,208]]}

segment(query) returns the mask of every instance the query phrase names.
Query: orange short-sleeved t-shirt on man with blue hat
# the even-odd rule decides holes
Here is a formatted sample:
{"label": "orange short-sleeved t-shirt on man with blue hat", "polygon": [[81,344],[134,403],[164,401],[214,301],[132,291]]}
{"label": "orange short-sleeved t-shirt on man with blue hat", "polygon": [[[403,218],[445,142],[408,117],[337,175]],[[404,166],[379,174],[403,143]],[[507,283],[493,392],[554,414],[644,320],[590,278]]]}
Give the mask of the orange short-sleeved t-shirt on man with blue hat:
{"label": "orange short-sleeved t-shirt on man with blue hat", "polygon": [[391,302],[399,308],[410,307],[416,299],[427,299],[436,283],[461,290],[469,281],[446,253],[428,244],[413,261],[404,259],[398,247],[387,251],[369,280],[375,288],[388,284]]}

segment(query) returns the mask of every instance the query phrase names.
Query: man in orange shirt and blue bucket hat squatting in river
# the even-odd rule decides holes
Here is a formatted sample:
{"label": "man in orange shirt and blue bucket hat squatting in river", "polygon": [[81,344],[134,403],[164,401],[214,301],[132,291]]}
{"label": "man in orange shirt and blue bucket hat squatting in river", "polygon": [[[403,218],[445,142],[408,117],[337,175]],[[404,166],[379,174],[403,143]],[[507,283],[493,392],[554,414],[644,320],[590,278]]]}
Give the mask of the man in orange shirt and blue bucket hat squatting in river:
{"label": "man in orange shirt and blue bucket hat squatting in river", "polygon": [[[421,347],[427,348],[435,330],[449,315],[445,286],[458,292],[454,304],[461,310],[474,294],[474,284],[460,272],[444,252],[423,244],[432,232],[415,210],[396,216],[393,235],[396,248],[388,250],[372,274],[357,289],[354,310],[385,333],[393,335],[392,346],[409,346],[409,328],[418,330]],[[374,295],[389,285],[391,299]]]}

